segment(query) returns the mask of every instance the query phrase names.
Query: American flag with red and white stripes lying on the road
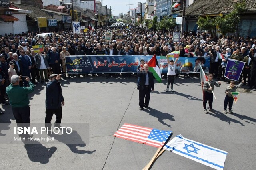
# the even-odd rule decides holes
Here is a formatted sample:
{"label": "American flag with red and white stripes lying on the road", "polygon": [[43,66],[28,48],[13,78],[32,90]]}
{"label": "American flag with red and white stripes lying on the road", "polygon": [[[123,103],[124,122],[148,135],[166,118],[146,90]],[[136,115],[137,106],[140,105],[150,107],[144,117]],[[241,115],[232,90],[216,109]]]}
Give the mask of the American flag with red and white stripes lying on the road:
{"label": "American flag with red and white stripes lying on the road", "polygon": [[158,130],[125,123],[114,136],[149,146],[163,146],[172,131]]}

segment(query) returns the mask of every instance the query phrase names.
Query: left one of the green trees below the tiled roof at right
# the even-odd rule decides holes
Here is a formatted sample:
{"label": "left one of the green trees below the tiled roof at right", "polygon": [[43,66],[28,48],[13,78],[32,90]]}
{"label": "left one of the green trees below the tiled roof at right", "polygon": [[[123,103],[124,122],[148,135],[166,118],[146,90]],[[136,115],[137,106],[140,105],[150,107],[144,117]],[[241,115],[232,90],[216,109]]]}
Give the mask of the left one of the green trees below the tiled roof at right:
{"label": "left one of the green trees below the tiled roof at right", "polygon": [[208,30],[211,35],[214,35],[216,32],[216,18],[210,16],[199,17],[197,23],[203,30]]}

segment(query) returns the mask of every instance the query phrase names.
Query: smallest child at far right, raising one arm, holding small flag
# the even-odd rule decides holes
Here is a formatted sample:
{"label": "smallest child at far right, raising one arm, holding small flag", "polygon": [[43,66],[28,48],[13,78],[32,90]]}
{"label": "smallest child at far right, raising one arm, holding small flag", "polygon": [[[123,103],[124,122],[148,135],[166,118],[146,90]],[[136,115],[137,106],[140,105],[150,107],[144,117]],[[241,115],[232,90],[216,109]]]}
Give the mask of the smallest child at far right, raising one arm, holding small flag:
{"label": "smallest child at far right, raising one arm, holding small flag", "polygon": [[225,97],[225,100],[224,100],[224,113],[227,114],[227,106],[228,106],[228,112],[229,113],[233,113],[232,111],[232,105],[233,105],[233,101],[234,101],[234,98],[232,96],[232,92],[236,92],[236,89],[241,87],[244,83],[244,80],[241,81],[241,83],[239,85],[235,85],[235,81],[234,80],[231,80],[230,81],[230,85],[226,88],[226,97]]}

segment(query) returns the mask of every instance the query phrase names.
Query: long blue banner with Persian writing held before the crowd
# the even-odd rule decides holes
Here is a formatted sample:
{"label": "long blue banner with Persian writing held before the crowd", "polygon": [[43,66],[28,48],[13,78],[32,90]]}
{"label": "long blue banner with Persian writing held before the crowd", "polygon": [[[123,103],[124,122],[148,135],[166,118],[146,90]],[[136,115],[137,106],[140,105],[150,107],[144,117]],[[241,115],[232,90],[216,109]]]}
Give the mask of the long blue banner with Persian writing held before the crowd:
{"label": "long blue banner with Persian writing held before the crowd", "polygon": [[[146,63],[152,56],[144,55],[87,55],[66,56],[68,73],[137,73],[140,60]],[[167,73],[168,64],[164,56],[157,56],[161,73]],[[169,58],[175,61],[175,58]],[[180,57],[176,64],[176,73],[200,73],[202,65],[209,71],[210,57]]]}

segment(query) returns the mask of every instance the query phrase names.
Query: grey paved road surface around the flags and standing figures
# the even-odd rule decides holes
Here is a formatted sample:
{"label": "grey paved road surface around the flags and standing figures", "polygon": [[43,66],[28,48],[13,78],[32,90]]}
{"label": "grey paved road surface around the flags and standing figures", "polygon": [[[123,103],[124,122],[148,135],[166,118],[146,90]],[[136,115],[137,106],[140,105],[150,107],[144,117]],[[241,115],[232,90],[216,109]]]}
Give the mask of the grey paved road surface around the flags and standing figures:
{"label": "grey paved road surface around the flags and standing figures", "polygon": [[[256,92],[241,93],[233,106],[234,114],[223,113],[222,82],[216,87],[215,113],[204,114],[200,79],[175,79],[175,93],[166,93],[166,80],[155,83],[152,109],[139,110],[136,77],[128,79],[86,77],[62,80],[65,98],[63,123],[89,123],[90,143],[86,145],[0,145],[1,169],[86,169],[140,170],[151,160],[157,148],[138,144],[113,134],[124,123],[172,130],[177,134],[228,152],[224,169],[253,170],[256,167]],[[45,87],[36,85],[30,95],[30,121],[43,123]],[[15,123],[10,106],[0,122]],[[54,121],[53,118],[52,121]],[[2,129],[1,134],[5,130]],[[0,135],[1,135],[0,134]],[[0,136],[1,138],[2,136]],[[172,152],[164,152],[152,170],[207,170],[208,166]]]}

